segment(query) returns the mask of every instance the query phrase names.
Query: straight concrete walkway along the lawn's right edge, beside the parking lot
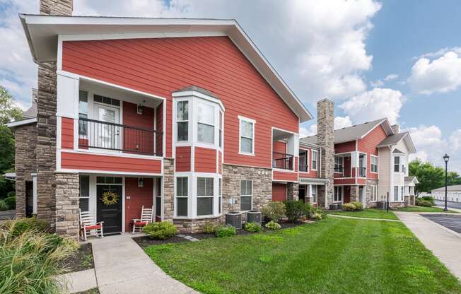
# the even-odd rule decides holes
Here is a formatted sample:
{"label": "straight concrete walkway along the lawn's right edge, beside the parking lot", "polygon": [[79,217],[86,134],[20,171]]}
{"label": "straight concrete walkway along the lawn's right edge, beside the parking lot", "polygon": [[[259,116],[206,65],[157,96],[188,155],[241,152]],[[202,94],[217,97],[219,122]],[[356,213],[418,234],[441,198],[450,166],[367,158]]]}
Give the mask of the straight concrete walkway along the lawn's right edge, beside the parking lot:
{"label": "straight concrete walkway along the lawn's right edge, beside the parking lot", "polygon": [[420,213],[396,211],[395,214],[412,230],[424,246],[431,250],[461,281],[461,235],[442,225],[433,223],[431,220],[420,216]]}

